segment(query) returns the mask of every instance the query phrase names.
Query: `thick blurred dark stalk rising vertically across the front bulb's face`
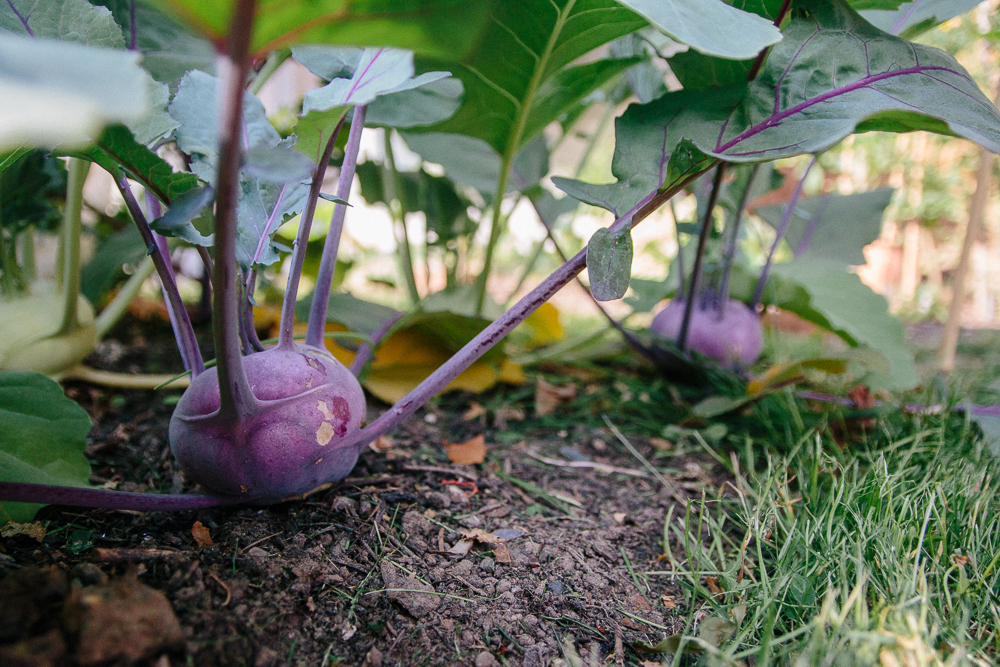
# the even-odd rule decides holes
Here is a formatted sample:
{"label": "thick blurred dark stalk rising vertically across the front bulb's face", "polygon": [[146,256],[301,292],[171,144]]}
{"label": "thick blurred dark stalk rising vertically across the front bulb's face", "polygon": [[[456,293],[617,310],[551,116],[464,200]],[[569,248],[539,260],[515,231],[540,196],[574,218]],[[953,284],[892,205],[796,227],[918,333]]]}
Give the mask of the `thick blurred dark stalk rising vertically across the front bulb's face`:
{"label": "thick blurred dark stalk rising vertically across the front bulb's face", "polygon": [[257,403],[243,368],[236,298],[236,207],[242,163],[243,82],[250,71],[250,35],[256,11],[256,0],[236,0],[229,30],[229,57],[219,59],[223,106],[219,116],[212,320],[218,359],[219,414],[233,420],[252,413]]}

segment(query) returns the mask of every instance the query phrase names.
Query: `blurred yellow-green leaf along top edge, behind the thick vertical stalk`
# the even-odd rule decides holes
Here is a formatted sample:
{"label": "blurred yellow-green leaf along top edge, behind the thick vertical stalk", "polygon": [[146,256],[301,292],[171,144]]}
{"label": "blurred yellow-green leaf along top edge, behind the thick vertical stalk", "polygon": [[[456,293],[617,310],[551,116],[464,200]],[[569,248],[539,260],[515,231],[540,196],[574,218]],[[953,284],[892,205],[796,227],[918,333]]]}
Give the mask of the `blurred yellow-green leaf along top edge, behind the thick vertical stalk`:
{"label": "blurred yellow-green leaf along top edge, behind the thick vertical stalk", "polygon": [[[232,0],[150,0],[206,39],[229,31]],[[260,2],[250,48],[255,53],[308,42],[397,46],[457,57],[475,42],[487,0],[281,0]]]}

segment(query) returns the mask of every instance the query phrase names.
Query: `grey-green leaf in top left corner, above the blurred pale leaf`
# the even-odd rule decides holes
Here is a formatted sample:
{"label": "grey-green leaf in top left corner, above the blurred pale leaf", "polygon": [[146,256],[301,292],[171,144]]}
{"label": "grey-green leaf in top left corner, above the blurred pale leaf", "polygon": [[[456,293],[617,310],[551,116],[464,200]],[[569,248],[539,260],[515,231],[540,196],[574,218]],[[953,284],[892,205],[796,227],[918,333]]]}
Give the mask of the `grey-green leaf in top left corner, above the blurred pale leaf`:
{"label": "grey-green leaf in top left corner, above the blurred pale leaf", "polygon": [[106,48],[125,46],[111,12],[87,0],[7,0],[0,4],[0,32]]}

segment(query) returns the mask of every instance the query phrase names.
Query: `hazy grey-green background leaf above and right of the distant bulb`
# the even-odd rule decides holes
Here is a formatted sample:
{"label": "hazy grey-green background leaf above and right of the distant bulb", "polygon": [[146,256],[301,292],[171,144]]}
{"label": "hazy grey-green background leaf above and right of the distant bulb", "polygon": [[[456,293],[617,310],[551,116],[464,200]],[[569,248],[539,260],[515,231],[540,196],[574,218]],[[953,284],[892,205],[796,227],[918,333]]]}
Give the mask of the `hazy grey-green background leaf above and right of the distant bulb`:
{"label": "hazy grey-green background leaf above and right of the distant bulb", "polygon": [[[824,195],[799,200],[785,232],[796,260],[822,259],[845,266],[865,263],[863,249],[878,238],[882,216],[893,190],[883,188],[853,195]],[[784,206],[755,211],[777,228]]]}

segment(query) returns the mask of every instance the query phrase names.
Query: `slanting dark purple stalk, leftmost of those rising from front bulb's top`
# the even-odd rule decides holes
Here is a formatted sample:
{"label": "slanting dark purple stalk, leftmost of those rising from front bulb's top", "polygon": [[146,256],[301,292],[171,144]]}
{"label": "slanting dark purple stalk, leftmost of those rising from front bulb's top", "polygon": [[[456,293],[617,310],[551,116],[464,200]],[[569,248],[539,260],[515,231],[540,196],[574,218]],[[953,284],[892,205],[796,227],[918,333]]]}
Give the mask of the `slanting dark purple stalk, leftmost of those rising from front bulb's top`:
{"label": "slanting dark purple stalk, leftmost of those rising from front bulb's top", "polygon": [[[160,286],[163,288],[167,303],[167,312],[170,314],[170,324],[174,329],[174,338],[177,340],[184,369],[191,371],[192,377],[197,377],[205,370],[205,364],[201,358],[201,351],[198,349],[198,339],[195,338],[191,318],[184,307],[180,292],[177,291],[177,281],[174,279],[174,269],[170,265],[170,255],[157,242],[157,235],[150,229],[142,207],[139,206],[135,195],[132,194],[132,187],[128,184],[128,179],[121,175],[115,179],[115,185],[118,186],[118,191],[121,192],[122,198],[125,200],[125,207],[132,215],[135,226],[139,229],[139,234],[142,235],[142,240],[153,260],[153,266],[156,268],[156,275],[160,278]],[[156,201],[154,197],[149,197],[150,212],[156,210],[152,204],[154,201]],[[159,202],[155,206],[158,207]],[[165,246],[166,239],[163,240]]]}

